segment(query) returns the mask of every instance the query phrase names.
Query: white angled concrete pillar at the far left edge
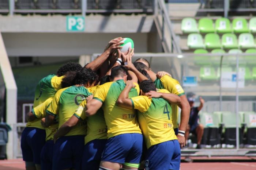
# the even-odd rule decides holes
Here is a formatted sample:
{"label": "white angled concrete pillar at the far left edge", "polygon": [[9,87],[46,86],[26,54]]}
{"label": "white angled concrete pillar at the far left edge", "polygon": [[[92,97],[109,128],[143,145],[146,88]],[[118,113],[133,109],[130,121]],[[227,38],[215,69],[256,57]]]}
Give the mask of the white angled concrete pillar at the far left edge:
{"label": "white angled concrete pillar at the far left edge", "polygon": [[8,143],[7,143],[7,158],[13,159],[15,145],[14,136],[16,123],[17,123],[17,86],[12,73],[12,68],[10,65],[9,58],[7,56],[2,35],[0,33],[0,69],[3,74],[5,88],[6,88],[6,121],[12,128],[10,132],[8,132]]}

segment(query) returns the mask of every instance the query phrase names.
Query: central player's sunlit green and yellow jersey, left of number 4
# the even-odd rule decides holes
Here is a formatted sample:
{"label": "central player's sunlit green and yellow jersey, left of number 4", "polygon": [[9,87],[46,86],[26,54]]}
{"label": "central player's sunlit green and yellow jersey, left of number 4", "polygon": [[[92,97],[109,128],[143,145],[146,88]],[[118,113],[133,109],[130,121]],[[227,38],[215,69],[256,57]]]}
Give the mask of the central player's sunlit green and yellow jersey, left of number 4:
{"label": "central player's sunlit green and yellow jersey, left of number 4", "polygon": [[[121,108],[116,105],[117,98],[124,88],[124,80],[117,80],[98,86],[93,94],[94,99],[102,102],[102,109],[108,127],[108,138],[128,133],[141,134],[135,109]],[[135,97],[138,94],[139,85],[136,84],[136,87],[129,92],[129,97]]]}

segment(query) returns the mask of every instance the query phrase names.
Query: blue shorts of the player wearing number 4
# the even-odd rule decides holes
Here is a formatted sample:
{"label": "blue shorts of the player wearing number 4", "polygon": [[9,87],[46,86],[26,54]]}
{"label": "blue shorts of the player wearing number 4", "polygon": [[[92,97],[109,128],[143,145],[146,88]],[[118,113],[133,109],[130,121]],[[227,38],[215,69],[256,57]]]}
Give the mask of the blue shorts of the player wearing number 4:
{"label": "blue shorts of the player wearing number 4", "polygon": [[148,148],[145,170],[180,170],[180,144],[169,140]]}

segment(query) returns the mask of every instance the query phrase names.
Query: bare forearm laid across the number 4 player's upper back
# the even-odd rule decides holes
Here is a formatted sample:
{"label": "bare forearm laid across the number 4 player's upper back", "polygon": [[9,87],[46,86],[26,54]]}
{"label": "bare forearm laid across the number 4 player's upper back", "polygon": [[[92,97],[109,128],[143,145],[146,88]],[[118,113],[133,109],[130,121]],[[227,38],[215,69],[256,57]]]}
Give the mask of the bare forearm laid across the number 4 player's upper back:
{"label": "bare forearm laid across the number 4 player's upper back", "polygon": [[180,104],[181,100],[180,97],[177,96],[176,94],[172,93],[161,93],[161,92],[156,92],[156,91],[150,91],[145,94],[146,96],[150,98],[163,98],[167,100],[170,104]]}

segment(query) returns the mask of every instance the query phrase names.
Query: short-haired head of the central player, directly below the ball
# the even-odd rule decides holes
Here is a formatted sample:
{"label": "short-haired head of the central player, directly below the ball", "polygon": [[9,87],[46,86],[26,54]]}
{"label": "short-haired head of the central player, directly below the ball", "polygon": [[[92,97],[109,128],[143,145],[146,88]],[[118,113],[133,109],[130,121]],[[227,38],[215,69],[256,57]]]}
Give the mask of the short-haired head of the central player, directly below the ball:
{"label": "short-haired head of the central player, directly below the ball", "polygon": [[127,80],[128,71],[124,66],[116,66],[111,69],[110,81],[123,79]]}

